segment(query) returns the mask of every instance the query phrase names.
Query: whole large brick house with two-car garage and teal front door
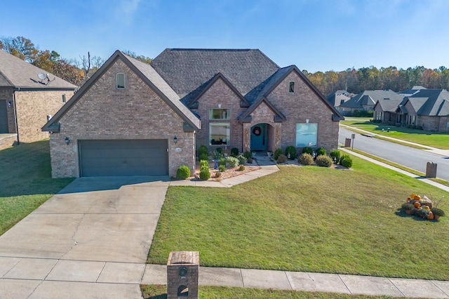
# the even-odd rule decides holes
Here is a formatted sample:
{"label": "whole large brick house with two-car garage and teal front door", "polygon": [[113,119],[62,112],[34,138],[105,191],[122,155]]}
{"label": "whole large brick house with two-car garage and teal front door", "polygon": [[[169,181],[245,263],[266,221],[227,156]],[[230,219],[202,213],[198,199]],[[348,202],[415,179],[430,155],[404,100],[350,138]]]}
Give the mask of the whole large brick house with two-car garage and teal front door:
{"label": "whole large brick house with two-car garage and teal front door", "polygon": [[43,126],[53,177],[175,175],[195,149],[338,145],[342,115],[300,70],[259,50],[116,51]]}

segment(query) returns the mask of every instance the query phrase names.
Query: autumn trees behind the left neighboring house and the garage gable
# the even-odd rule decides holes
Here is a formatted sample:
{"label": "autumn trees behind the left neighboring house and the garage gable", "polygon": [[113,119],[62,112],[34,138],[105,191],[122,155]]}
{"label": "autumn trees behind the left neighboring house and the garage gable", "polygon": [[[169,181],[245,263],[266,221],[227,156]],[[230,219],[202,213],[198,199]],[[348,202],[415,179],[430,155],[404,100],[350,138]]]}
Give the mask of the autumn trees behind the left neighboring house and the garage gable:
{"label": "autumn trees behind the left neighboring house and the garage gable", "polygon": [[[105,62],[98,56],[91,57],[89,52],[87,55],[80,55],[79,60],[62,58],[56,51],[37,49],[31,40],[23,36],[0,38],[0,50],[15,55],[76,86],[83,85]],[[124,53],[143,62],[151,61],[151,58],[136,55],[131,51],[124,51]]]}

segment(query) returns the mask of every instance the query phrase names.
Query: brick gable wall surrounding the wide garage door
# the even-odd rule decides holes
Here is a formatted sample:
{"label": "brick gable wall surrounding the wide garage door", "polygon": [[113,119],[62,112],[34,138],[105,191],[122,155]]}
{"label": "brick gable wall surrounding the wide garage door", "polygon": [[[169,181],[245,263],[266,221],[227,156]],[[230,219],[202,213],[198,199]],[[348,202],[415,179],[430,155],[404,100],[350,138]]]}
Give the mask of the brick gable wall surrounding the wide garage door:
{"label": "brick gable wall surrounding the wide garage door", "polygon": [[[125,74],[123,90],[116,89],[115,74],[119,72]],[[51,135],[50,140],[52,175],[79,177],[77,144],[87,139],[168,139],[169,175],[176,175],[182,164],[193,171],[194,134],[185,133],[183,124],[166,102],[117,60],[60,119],[60,133]],[[182,151],[175,152],[176,147]]]}

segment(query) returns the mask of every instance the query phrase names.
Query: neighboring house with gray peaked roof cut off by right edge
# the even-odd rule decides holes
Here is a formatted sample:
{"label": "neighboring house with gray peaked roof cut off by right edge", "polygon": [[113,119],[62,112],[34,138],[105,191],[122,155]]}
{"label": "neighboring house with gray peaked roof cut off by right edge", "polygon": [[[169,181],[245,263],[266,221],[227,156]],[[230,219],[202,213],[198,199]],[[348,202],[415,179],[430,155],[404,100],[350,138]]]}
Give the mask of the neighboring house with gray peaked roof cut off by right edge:
{"label": "neighboring house with gray peaked roof cut off by right edge", "polygon": [[449,92],[445,89],[422,89],[404,98],[406,125],[423,130],[449,131]]}

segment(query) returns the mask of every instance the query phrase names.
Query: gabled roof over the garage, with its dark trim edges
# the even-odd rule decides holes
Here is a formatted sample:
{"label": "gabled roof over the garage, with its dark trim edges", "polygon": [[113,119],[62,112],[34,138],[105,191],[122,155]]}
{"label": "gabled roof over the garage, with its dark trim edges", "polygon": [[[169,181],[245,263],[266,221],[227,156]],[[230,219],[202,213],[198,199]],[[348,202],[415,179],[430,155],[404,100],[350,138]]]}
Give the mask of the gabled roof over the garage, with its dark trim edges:
{"label": "gabled roof over the garage, with its dark trim edges", "polygon": [[[69,109],[102,77],[116,60],[122,60],[135,74],[142,79],[152,90],[164,100],[171,109],[173,109],[182,119],[184,119],[189,128],[198,130],[201,128],[201,121],[185,105],[180,102],[179,96],[166,84],[166,82],[157,74],[157,72],[147,63],[141,62],[135,58],[125,55],[121,51],[115,51],[114,54],[98,69],[95,74],[84,84],[75,95],[62,106],[62,108],[43,126],[43,131],[55,131],[57,123],[69,111]],[[187,130],[187,127],[186,127]]]}

